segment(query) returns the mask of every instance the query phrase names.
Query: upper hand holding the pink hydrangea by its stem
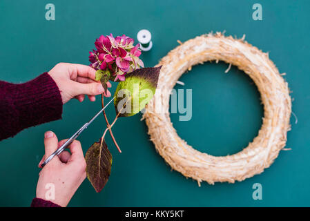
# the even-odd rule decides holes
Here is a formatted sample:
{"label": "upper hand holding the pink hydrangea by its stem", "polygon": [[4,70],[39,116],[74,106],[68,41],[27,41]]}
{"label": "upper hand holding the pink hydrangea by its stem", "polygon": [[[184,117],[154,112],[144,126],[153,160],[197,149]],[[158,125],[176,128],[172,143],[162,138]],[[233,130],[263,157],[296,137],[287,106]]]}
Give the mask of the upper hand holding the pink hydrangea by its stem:
{"label": "upper hand holding the pink hydrangea by its stem", "polygon": [[[72,98],[77,98],[83,102],[85,95],[90,101],[95,102],[95,95],[104,93],[104,88],[99,81],[95,81],[96,70],[83,64],[59,63],[48,72],[50,77],[56,82],[63,104]],[[110,82],[107,83],[111,87]],[[105,97],[110,97],[110,91],[104,93]]]}

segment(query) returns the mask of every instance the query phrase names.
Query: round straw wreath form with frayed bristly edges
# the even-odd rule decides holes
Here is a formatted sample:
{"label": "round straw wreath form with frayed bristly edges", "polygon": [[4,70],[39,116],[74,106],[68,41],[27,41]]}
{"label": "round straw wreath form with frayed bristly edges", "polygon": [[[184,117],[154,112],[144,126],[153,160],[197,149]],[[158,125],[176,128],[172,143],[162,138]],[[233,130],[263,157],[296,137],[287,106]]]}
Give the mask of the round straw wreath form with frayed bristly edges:
{"label": "round straw wreath form with frayed bristly edges", "polygon": [[[249,75],[264,104],[264,118],[258,136],[239,153],[224,157],[201,153],[186,144],[173,128],[168,112],[171,90],[177,79],[195,64],[213,60],[233,64]],[[157,90],[146,107],[144,118],[156,150],[172,169],[197,180],[199,186],[202,181],[233,183],[262,173],[278,157],[290,130],[291,97],[287,82],[267,53],[244,39],[224,37],[217,32],[177,46],[158,65],[162,65],[162,70]],[[156,110],[164,111],[157,113]]]}

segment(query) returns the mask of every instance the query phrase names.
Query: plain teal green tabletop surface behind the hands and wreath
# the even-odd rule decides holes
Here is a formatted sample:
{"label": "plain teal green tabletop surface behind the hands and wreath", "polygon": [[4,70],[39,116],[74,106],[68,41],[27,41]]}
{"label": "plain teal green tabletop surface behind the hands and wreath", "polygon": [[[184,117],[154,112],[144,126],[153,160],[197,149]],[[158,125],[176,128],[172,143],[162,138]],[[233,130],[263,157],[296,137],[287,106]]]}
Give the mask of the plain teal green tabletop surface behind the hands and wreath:
{"label": "plain teal green tabletop surface behind the hands and wreath", "polygon": [[[45,6],[54,3],[56,20],[45,19]],[[252,6],[262,4],[262,21],[253,21]],[[208,32],[224,31],[269,52],[271,60],[289,82],[293,98],[292,130],[287,148],[264,173],[235,184],[209,185],[171,171],[149,140],[141,113],[119,119],[113,131],[123,153],[109,135],[113,154],[110,180],[95,193],[88,180],[81,184],[69,206],[310,206],[310,1],[0,1],[0,79],[28,81],[59,62],[88,63],[88,51],[99,35],[136,37],[151,31],[153,49],[142,54],[154,66],[177,46]],[[260,94],[242,71],[227,64],[193,67],[181,77],[193,89],[193,117],[180,122],[171,115],[180,137],[212,155],[237,153],[258,134],[262,124]],[[114,93],[116,84],[111,92]],[[72,135],[100,108],[100,99],[64,106],[63,119],[28,128],[0,142],[0,206],[29,206],[35,197],[43,155],[43,133],[54,131],[59,139]],[[115,117],[113,106],[107,111]],[[5,126],[5,125],[1,125]],[[104,118],[99,117],[80,137],[87,148],[101,137]],[[253,200],[252,186],[262,184],[262,200]]]}

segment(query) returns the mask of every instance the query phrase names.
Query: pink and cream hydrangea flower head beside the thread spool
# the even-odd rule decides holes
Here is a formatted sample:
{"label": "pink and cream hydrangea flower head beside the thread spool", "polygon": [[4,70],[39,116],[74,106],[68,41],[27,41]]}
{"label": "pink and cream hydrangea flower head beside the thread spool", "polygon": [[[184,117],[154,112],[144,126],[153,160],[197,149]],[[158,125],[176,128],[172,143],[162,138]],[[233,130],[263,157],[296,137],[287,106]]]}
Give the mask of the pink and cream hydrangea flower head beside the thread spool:
{"label": "pink and cream hydrangea flower head beside the thread spool", "polygon": [[126,73],[144,67],[139,59],[139,44],[133,46],[133,43],[134,40],[126,35],[115,38],[112,34],[101,35],[95,41],[97,50],[89,52],[90,66],[96,70],[108,70],[114,81],[124,81]]}

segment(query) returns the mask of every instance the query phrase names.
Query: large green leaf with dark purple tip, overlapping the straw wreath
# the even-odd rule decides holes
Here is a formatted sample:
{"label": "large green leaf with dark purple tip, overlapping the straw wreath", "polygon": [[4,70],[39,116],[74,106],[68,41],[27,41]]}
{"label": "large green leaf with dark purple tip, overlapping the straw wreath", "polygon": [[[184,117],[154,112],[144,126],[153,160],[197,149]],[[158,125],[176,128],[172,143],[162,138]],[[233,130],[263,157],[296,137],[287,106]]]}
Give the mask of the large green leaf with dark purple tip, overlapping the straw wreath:
{"label": "large green leaf with dark purple tip, overlapping the straw wreath", "polygon": [[162,66],[134,70],[119,82],[114,95],[115,111],[119,117],[133,116],[148,104],[155,94],[160,68]]}

